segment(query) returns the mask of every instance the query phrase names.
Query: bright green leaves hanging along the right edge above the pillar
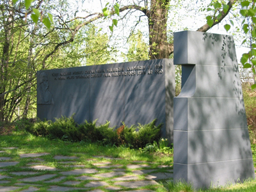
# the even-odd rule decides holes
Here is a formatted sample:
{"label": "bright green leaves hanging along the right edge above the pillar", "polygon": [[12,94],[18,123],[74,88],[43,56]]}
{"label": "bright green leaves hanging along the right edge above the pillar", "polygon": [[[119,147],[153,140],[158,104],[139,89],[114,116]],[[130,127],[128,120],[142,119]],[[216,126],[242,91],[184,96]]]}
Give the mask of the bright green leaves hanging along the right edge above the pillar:
{"label": "bright green leaves hanging along the right edge above the pillar", "polygon": [[[230,2],[229,2],[230,3]],[[222,6],[221,6],[222,4]],[[252,74],[254,77],[254,81],[256,82],[256,49],[255,49],[255,40],[256,40],[256,7],[254,1],[237,1],[232,4],[232,10],[237,12],[237,14],[233,14],[233,18],[229,19],[230,24],[234,26],[234,22],[232,19],[240,20],[239,26],[241,28],[237,28],[237,30],[243,33],[242,45],[247,44],[250,47],[250,51],[243,54],[241,58],[241,63],[244,68],[251,68]],[[225,1],[216,1],[212,0],[209,4],[207,11],[210,11],[212,15],[208,15],[206,17],[207,24],[212,27],[214,22],[220,20],[221,15],[228,12],[230,9],[230,4],[228,5]],[[238,13],[239,12],[239,13]],[[230,24],[225,24],[224,28],[228,32],[231,28]],[[255,60],[255,61],[254,61]],[[256,84],[252,84],[251,88],[256,88]]]}

